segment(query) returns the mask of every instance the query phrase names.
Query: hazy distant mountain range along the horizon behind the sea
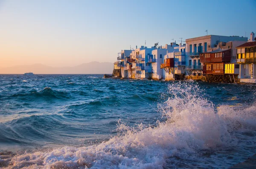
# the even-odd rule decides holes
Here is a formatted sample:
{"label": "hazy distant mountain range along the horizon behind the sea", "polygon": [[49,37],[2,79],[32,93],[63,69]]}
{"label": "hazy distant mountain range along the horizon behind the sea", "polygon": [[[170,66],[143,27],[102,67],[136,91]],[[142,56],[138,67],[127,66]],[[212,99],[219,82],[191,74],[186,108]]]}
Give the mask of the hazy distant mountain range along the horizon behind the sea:
{"label": "hazy distant mountain range along the horizon behind the sea", "polygon": [[0,68],[0,74],[112,74],[114,65],[110,62],[90,62],[73,67],[51,67],[42,64],[20,65]]}

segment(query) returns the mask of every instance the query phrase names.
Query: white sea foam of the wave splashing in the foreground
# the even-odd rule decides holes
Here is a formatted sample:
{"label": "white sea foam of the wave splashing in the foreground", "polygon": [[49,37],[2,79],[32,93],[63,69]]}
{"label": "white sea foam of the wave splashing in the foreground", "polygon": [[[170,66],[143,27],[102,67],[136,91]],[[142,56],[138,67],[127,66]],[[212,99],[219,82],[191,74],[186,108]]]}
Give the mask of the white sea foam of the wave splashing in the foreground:
{"label": "white sea foam of the wave splashing in the foreground", "polygon": [[[119,123],[118,130],[125,131],[124,134],[120,132],[99,145],[79,148],[65,146],[3,160],[9,163],[10,168],[70,169],[192,168],[192,164],[194,167],[219,168],[239,162],[235,155],[231,155],[233,160],[228,160],[227,155],[218,155],[217,152],[221,154],[221,151],[233,147],[242,152],[244,146],[255,145],[255,134],[239,140],[237,133],[255,132],[256,106],[241,110],[220,106],[215,110],[195,83],[185,84],[173,83],[169,86],[172,96],[159,104],[167,120],[157,121],[156,127],[144,128],[141,124],[134,129]],[[210,158],[202,155],[211,151],[217,154],[210,155]],[[251,151],[256,149],[252,148]]]}

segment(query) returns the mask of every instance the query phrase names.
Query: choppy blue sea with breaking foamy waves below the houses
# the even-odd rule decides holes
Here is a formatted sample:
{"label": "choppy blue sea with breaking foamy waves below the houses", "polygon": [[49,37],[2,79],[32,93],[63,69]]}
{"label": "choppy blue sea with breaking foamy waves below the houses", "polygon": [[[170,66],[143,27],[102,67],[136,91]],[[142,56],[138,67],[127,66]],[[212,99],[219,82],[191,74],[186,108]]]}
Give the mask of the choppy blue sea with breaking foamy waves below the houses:
{"label": "choppy blue sea with breaking foamy waves below the houses", "polygon": [[256,153],[256,85],[0,75],[0,168],[227,169]]}

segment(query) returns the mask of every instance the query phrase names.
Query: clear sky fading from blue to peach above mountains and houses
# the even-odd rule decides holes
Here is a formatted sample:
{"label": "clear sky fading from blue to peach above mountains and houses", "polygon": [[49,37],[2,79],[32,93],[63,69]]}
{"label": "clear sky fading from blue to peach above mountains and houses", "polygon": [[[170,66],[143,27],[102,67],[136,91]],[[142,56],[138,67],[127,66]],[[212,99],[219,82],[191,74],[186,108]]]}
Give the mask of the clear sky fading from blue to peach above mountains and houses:
{"label": "clear sky fading from blue to peach above mountains and houses", "polygon": [[256,0],[0,0],[0,67],[115,62],[136,45],[256,33]]}

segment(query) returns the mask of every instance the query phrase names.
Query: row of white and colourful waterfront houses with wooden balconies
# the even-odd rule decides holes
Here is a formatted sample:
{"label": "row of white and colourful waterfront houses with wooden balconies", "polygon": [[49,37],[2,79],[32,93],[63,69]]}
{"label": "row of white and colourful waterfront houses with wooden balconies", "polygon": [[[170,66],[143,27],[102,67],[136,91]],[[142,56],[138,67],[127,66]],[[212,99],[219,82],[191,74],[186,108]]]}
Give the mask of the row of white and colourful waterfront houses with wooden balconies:
{"label": "row of white and colourful waterfront houses with wooden balconies", "polygon": [[207,35],[185,44],[122,50],[113,76],[132,79],[204,79],[208,82],[256,83],[256,40],[239,36]]}

